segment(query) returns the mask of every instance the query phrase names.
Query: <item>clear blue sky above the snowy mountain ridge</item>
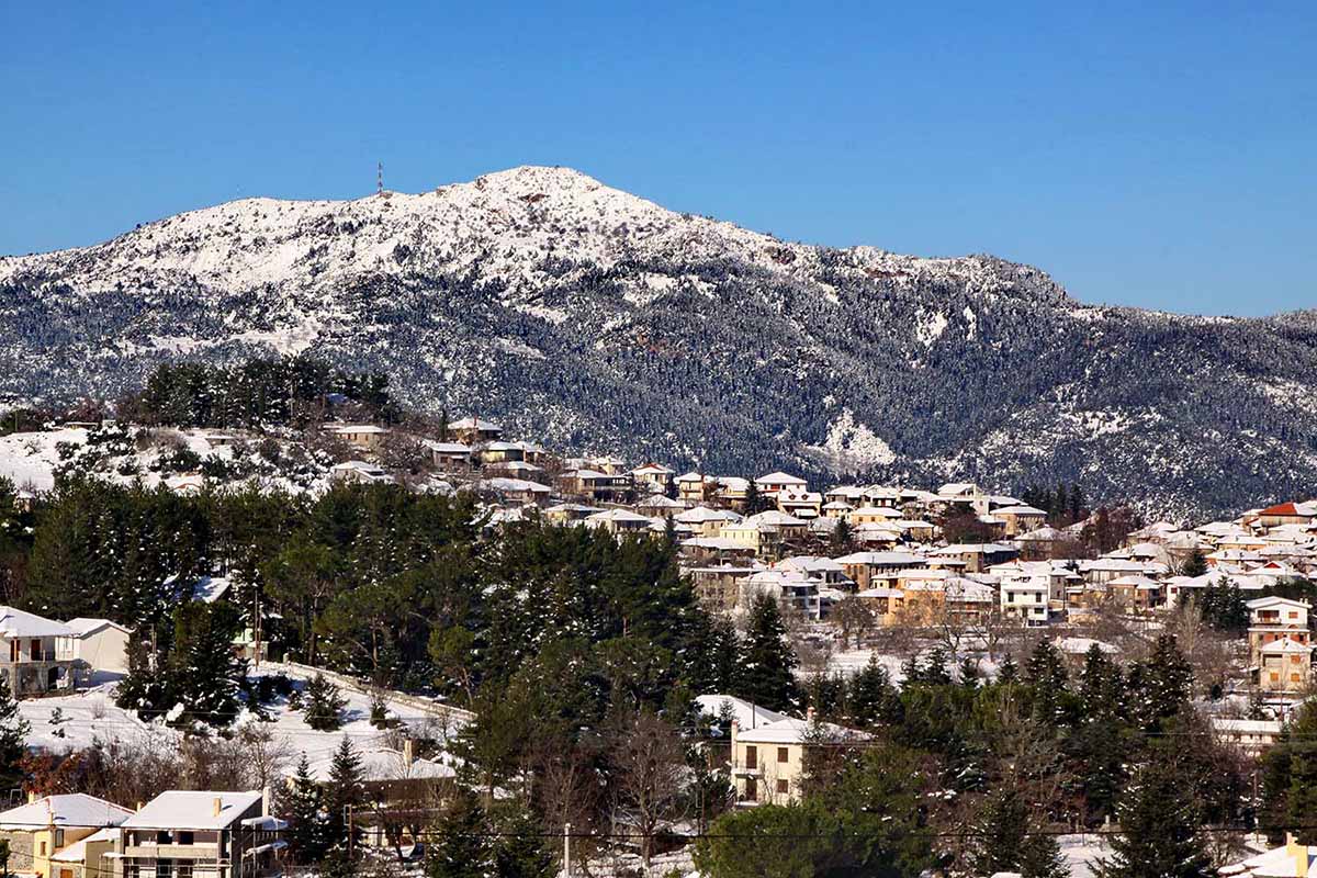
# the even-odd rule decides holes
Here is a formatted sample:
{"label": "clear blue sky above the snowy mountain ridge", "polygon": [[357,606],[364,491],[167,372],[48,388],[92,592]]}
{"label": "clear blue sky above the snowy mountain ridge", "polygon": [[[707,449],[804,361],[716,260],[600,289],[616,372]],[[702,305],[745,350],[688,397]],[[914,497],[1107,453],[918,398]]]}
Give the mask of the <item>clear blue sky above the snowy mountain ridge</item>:
{"label": "clear blue sky above the snowy mountain ridge", "polygon": [[568,165],[1085,301],[1317,307],[1317,3],[932,5],[0,0],[0,253]]}

